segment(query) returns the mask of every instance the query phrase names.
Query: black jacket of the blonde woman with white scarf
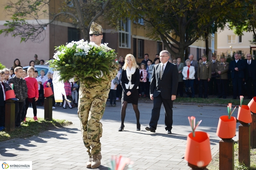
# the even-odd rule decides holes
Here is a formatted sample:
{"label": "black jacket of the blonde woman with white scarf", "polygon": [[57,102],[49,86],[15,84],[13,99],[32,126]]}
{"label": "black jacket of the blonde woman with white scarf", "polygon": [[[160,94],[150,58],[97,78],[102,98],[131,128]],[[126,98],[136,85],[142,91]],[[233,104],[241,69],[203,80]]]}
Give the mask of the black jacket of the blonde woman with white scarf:
{"label": "black jacket of the blonde woman with white scarf", "polygon": [[128,84],[128,83],[129,83],[129,80],[126,75],[126,70],[122,69],[121,85],[122,85],[125,93],[127,93],[129,91],[132,93],[132,92],[134,92],[134,90],[137,89],[137,87],[139,86],[139,83],[140,83],[140,70],[138,68],[135,70],[134,74],[132,74],[131,83],[134,86],[132,87],[131,90],[126,89],[126,87],[125,87],[125,84]]}

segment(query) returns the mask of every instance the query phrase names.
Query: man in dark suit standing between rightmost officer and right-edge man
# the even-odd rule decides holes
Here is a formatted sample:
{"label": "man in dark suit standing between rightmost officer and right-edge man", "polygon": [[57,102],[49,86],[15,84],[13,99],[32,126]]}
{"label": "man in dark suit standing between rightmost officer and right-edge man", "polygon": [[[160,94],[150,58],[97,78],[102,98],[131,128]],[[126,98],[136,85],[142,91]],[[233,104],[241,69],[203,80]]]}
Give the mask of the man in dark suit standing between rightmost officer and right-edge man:
{"label": "man in dark suit standing between rightmost officer and right-edge man", "polygon": [[233,99],[237,97],[237,90],[238,96],[242,95],[242,83],[244,78],[244,69],[245,69],[245,62],[239,60],[238,53],[235,53],[235,60],[231,61],[229,64],[229,70],[231,70],[231,78],[232,78],[232,85],[233,85]]}

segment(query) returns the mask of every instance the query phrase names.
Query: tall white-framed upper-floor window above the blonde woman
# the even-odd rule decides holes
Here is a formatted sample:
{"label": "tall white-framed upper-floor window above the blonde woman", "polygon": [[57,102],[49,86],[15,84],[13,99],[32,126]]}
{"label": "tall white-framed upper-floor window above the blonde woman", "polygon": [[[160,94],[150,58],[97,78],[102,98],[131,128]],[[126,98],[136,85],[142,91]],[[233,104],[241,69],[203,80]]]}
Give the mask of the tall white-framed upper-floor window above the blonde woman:
{"label": "tall white-framed upper-floor window above the blonde woman", "polygon": [[130,20],[126,18],[125,22],[119,21],[119,26],[119,47],[130,48]]}

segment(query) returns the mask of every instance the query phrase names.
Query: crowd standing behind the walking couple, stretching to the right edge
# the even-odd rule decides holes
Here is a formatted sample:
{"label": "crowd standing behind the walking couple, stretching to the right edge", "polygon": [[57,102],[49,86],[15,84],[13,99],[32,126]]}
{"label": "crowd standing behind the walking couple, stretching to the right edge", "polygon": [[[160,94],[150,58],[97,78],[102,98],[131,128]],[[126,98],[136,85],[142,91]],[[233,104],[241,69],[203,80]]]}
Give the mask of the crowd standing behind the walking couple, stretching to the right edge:
{"label": "crowd standing behind the walking couple, stretching to the right edge", "polygon": [[[160,63],[159,55],[156,54],[154,62],[150,60],[148,54],[144,55],[144,60],[139,66],[140,83],[139,97],[149,97],[149,87],[155,64]],[[208,98],[208,95],[216,95],[217,98],[227,98],[229,89],[229,79],[232,80],[233,99],[245,93],[248,99],[256,96],[256,61],[252,60],[252,55],[247,54],[246,59],[242,59],[241,54],[235,53],[235,60],[226,62],[225,55],[220,55],[218,61],[216,53],[212,53],[212,60],[207,61],[207,56],[202,56],[196,61],[194,55],[190,54],[188,60],[181,62],[181,57],[176,59],[169,58],[169,62],[176,64],[179,71],[179,84],[177,95],[183,97],[184,92],[187,97]],[[119,68],[124,64],[124,57],[119,58]],[[245,90],[242,90],[242,87]],[[253,92],[252,92],[253,89]],[[119,100],[122,94],[121,85],[117,85],[116,100]],[[144,93],[143,93],[144,92]],[[142,95],[143,94],[143,95]]]}

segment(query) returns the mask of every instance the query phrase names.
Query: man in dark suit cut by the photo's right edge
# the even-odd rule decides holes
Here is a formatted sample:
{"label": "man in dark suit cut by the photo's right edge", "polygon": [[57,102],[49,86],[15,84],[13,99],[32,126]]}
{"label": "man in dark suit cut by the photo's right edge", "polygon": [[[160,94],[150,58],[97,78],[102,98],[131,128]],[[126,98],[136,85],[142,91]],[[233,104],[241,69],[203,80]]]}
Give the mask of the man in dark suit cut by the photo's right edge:
{"label": "man in dark suit cut by the photo's right edge", "polygon": [[[247,60],[245,60],[245,71],[244,77],[246,82],[246,89],[248,99],[252,99],[252,97],[256,96],[256,61],[252,60],[252,55],[246,55]],[[252,96],[252,86],[254,90],[254,95]]]}

